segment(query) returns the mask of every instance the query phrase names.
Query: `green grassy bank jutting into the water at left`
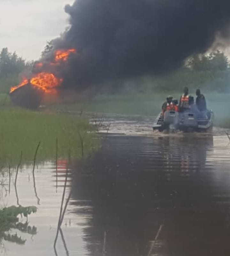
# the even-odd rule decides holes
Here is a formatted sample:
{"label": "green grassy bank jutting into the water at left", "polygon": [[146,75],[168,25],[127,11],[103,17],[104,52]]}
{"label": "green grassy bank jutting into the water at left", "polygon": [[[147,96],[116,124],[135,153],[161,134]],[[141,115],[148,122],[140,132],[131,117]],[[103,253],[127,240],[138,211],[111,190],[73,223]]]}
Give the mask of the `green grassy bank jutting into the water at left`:
{"label": "green grassy bank jutting into the water at left", "polygon": [[30,162],[39,141],[41,146],[37,161],[54,159],[56,137],[58,155],[66,158],[69,149],[74,158],[81,156],[81,138],[84,152],[90,153],[98,145],[93,127],[81,117],[54,113],[43,113],[20,108],[0,109],[0,163],[17,164],[23,151],[23,162]]}

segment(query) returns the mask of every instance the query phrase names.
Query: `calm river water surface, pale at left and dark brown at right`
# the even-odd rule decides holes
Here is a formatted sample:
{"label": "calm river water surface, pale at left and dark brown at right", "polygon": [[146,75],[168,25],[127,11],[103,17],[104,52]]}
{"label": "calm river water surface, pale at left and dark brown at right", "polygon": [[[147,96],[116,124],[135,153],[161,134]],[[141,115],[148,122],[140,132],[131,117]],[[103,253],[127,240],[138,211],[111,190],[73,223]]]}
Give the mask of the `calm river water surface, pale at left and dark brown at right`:
{"label": "calm river water surface, pale at left and dark brown at right", "polygon": [[[213,135],[151,132],[151,119],[108,118],[102,148],[74,161],[66,195],[72,196],[57,255],[230,255],[230,145]],[[139,125],[138,125],[139,124]],[[108,131],[108,133],[107,133]],[[135,136],[133,136],[135,135]],[[18,175],[18,201],[35,205],[25,245],[2,241],[0,255],[55,255],[53,242],[65,180],[65,162],[48,161]],[[14,177],[2,177],[0,205],[17,205]],[[21,220],[21,219],[20,219]],[[25,218],[21,221],[26,221]]]}

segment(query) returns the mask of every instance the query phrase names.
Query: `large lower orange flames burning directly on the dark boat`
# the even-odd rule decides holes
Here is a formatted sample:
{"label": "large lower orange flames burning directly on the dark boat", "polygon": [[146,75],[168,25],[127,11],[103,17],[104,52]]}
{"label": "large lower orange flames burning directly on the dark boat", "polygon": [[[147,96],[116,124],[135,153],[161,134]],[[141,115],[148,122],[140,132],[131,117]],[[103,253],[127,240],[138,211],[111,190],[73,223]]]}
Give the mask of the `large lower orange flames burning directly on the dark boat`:
{"label": "large lower orange flames burning directly on the dark boat", "polygon": [[36,87],[37,89],[41,89],[48,93],[55,93],[56,87],[60,85],[62,79],[57,78],[52,73],[41,72],[38,73],[36,76],[30,79],[24,79],[18,86],[11,87],[10,93],[14,90],[22,87],[30,82],[31,85]]}

